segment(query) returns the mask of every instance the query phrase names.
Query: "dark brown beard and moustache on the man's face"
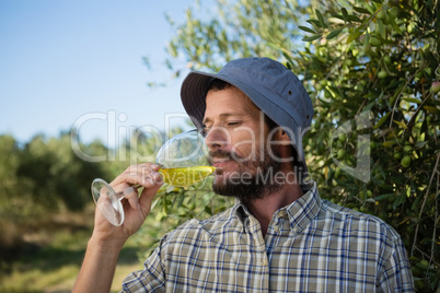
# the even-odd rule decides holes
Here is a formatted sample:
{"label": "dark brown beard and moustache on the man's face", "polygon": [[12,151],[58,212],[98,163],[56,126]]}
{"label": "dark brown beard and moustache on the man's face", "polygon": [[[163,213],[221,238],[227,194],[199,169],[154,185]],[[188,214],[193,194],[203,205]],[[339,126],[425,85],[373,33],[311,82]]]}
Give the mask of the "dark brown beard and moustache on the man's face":
{"label": "dark brown beard and moustache on the man's face", "polygon": [[238,172],[230,176],[222,175],[221,180],[213,180],[212,190],[221,196],[235,197],[242,203],[248,203],[255,199],[262,199],[282,188],[282,183],[274,180],[274,176],[281,171],[281,164],[276,159],[280,157],[277,149],[264,152],[258,157],[263,160],[240,160],[236,153],[217,150],[209,153],[209,157],[219,157],[238,165]]}

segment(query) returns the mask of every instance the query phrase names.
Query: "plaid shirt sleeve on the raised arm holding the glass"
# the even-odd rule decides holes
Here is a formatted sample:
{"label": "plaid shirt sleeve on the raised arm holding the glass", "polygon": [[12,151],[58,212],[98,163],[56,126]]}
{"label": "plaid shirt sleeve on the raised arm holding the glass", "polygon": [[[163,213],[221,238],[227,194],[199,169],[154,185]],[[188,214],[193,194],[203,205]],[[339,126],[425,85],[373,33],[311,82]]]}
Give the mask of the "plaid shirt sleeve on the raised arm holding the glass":
{"label": "plaid shirt sleeve on the raised arm holding the glass", "polygon": [[166,235],[161,239],[159,247],[143,262],[143,270],[130,273],[123,281],[120,292],[165,292],[165,266],[162,260],[165,238]]}

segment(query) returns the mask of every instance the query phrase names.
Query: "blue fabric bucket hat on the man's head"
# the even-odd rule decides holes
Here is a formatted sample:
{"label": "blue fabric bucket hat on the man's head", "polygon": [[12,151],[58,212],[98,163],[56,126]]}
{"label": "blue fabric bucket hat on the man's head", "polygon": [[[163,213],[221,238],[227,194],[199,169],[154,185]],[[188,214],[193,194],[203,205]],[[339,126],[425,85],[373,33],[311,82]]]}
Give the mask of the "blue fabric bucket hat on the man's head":
{"label": "blue fabric bucket hat on the man's head", "polygon": [[181,89],[183,106],[197,128],[201,128],[206,95],[213,79],[223,80],[251,98],[273,121],[289,134],[306,172],[302,137],[309,130],[312,101],[304,86],[289,69],[269,58],[242,58],[227,63],[218,73],[192,71]]}

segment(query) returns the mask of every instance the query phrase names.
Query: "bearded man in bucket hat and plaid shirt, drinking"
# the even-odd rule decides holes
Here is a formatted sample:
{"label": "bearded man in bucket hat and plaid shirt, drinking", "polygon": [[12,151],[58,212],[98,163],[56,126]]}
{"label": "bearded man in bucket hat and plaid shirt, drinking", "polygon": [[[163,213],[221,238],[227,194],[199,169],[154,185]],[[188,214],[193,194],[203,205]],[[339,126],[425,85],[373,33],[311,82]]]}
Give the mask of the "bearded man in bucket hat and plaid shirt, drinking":
{"label": "bearded man in bucket hat and plaid shirt, drinking", "polygon": [[[182,101],[204,130],[213,190],[238,204],[166,234],[128,276],[124,292],[413,292],[397,233],[381,220],[322,200],[306,181],[302,134],[312,103],[298,78],[268,58],[244,58],[218,74],[192,72]],[[76,292],[108,292],[118,254],[150,211],[160,166],[130,166],[112,186],[134,192],[126,220],[96,212]]]}

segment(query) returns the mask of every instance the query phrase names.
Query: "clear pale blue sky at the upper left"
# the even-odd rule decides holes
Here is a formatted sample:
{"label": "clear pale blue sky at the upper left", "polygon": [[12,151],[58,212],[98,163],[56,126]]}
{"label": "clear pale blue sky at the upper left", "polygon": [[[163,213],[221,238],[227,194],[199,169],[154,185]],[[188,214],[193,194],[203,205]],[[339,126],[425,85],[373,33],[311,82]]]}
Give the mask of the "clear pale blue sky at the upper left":
{"label": "clear pale blue sky at the upper left", "polygon": [[[81,141],[99,138],[111,144],[109,128],[164,129],[165,114],[184,116],[183,79],[173,81],[164,66],[164,48],[174,34],[164,13],[182,23],[193,2],[0,1],[0,134],[26,142],[76,125]],[[170,84],[150,89],[149,81]]]}

